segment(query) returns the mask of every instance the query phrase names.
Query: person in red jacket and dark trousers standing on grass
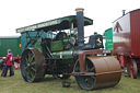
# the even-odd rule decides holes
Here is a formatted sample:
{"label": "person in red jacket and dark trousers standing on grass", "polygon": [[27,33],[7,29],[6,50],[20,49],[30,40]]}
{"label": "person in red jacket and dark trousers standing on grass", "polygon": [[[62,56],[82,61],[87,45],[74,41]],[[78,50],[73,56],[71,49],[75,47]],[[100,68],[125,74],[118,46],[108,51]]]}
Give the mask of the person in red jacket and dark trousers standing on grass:
{"label": "person in red jacket and dark trousers standing on grass", "polygon": [[8,55],[5,57],[7,70],[5,70],[5,74],[3,77],[7,77],[8,69],[10,69],[10,77],[13,75],[13,71],[12,71],[13,61],[11,60],[11,57],[13,58],[13,55],[11,53],[11,49],[8,49]]}

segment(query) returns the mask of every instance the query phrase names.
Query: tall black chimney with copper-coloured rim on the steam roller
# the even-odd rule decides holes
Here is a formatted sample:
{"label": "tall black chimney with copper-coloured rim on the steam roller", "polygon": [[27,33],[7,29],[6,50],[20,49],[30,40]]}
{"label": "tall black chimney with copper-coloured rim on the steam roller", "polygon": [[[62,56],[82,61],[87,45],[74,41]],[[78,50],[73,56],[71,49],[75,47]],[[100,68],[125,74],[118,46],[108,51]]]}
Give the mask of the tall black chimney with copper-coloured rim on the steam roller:
{"label": "tall black chimney with copper-coloured rim on the steam roller", "polygon": [[77,11],[77,25],[78,25],[78,45],[84,45],[84,18],[83,8],[75,9]]}

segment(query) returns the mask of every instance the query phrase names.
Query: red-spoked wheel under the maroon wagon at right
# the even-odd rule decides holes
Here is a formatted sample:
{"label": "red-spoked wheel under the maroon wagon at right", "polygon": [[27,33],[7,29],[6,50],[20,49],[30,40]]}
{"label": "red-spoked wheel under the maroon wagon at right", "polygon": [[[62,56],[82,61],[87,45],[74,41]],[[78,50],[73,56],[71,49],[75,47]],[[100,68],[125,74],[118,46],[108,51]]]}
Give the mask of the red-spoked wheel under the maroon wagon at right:
{"label": "red-spoked wheel under the maroon wagon at right", "polygon": [[129,71],[130,71],[131,78],[137,79],[138,68],[135,59],[131,59],[131,62],[129,63]]}

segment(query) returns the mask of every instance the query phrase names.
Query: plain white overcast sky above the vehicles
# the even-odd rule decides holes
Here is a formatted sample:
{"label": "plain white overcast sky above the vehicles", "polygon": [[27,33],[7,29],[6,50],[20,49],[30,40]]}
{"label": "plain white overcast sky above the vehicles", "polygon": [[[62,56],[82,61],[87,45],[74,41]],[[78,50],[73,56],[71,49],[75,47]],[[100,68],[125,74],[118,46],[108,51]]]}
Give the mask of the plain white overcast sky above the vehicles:
{"label": "plain white overcast sky above the vehicles", "polygon": [[140,8],[140,0],[0,0],[0,36],[20,35],[15,28],[52,19],[74,15],[75,8],[84,8],[84,15],[93,19],[85,35],[112,27],[112,22],[126,12]]}

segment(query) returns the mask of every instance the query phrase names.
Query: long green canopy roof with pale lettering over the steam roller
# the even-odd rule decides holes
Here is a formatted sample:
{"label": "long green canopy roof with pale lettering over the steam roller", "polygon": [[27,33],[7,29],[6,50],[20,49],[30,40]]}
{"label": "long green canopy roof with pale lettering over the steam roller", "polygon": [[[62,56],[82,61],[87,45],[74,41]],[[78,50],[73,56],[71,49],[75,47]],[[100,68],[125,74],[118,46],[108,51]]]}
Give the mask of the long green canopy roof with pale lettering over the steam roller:
{"label": "long green canopy roof with pale lettering over the steam roller", "polygon": [[[23,32],[28,32],[28,31],[42,31],[42,30],[44,32],[48,32],[48,31],[55,32],[55,31],[60,31],[60,30],[68,30],[71,27],[71,22],[73,23],[73,27],[77,27],[75,19],[77,19],[75,15],[59,18],[59,19],[33,24],[30,26],[16,28],[16,33],[23,33]],[[92,25],[92,24],[93,24],[93,20],[84,16],[84,26]]]}

